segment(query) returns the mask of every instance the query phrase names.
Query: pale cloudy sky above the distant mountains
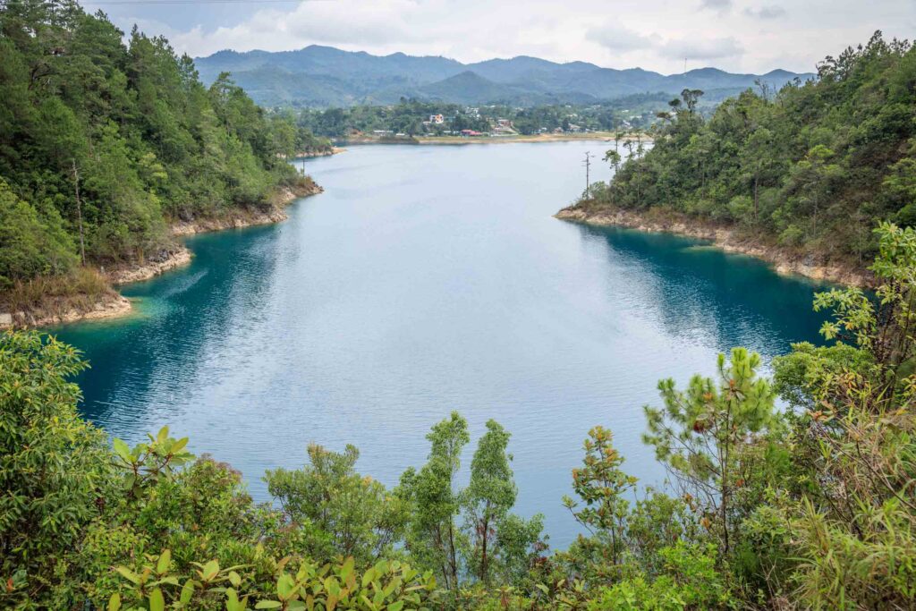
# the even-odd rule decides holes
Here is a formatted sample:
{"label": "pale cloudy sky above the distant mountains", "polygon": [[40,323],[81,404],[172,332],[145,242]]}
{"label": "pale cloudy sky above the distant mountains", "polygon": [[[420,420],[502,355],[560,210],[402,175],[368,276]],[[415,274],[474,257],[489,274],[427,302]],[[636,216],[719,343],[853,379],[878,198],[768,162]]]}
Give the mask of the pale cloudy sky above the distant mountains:
{"label": "pale cloudy sky above the distant mountains", "polygon": [[916,32],[916,0],[98,0],[129,31],[192,56],[321,44],[477,61],[533,55],[663,73],[812,71],[825,55]]}

